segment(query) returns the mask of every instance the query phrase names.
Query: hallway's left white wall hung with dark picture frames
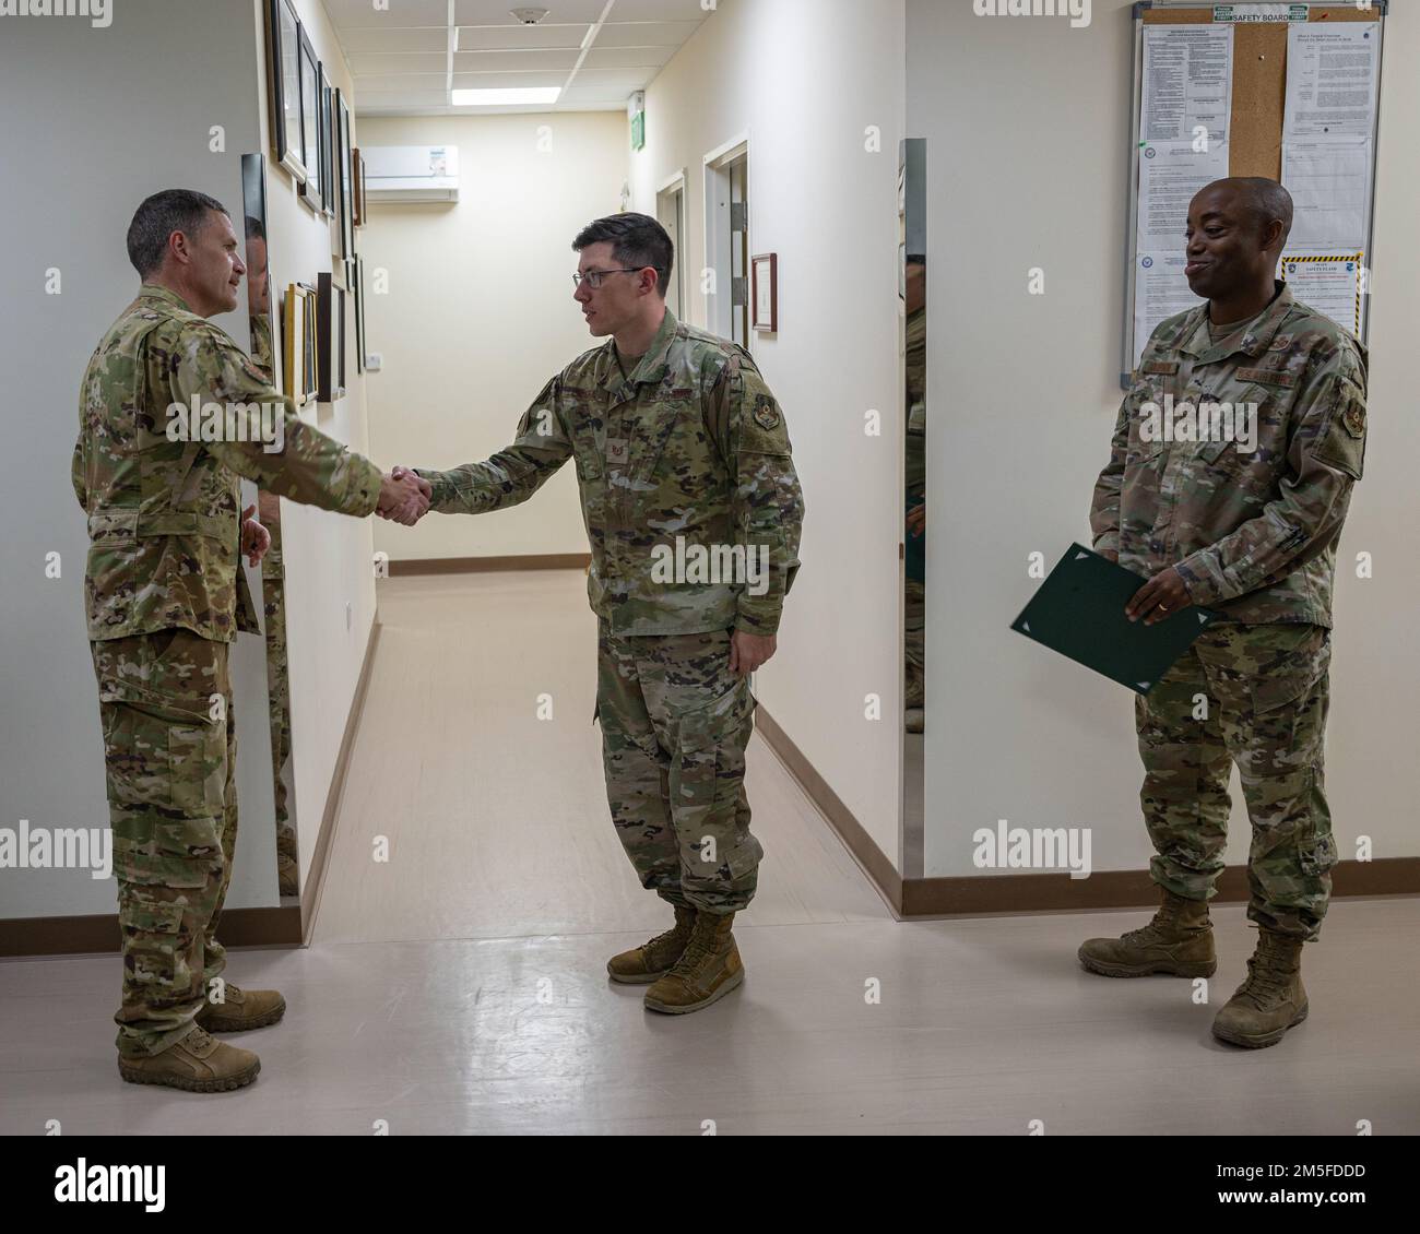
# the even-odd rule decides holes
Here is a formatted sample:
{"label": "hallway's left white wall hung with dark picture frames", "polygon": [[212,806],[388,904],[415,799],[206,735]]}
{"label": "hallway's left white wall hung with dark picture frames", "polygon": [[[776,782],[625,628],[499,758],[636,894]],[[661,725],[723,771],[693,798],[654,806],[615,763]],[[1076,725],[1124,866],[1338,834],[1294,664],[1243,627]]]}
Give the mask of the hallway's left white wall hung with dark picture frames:
{"label": "hallway's left white wall hung with dark picture frames", "polygon": [[[261,31],[266,4],[253,0],[250,7],[257,23],[254,30]],[[349,65],[325,7],[321,0],[295,0],[295,10],[317,60],[325,65],[331,87],[345,95],[354,112],[358,99],[352,95]],[[267,230],[274,295],[288,283],[310,283],[314,287],[317,275],[329,273],[334,263],[331,224],[301,204],[294,180],[274,162],[264,36],[258,40],[258,68],[250,88],[258,91],[261,104],[260,149],[267,155]],[[351,142],[361,142],[354,114]],[[359,253],[365,251],[365,236],[364,230],[356,231]],[[366,257],[366,271],[368,261]],[[369,454],[366,378],[356,372],[355,365],[354,294],[346,295],[345,338],[345,398],[334,406],[308,403],[301,415],[352,450]],[[302,886],[315,855],[325,798],[375,621],[373,521],[346,518],[293,501],[281,503],[285,628],[291,663],[291,768]]]}

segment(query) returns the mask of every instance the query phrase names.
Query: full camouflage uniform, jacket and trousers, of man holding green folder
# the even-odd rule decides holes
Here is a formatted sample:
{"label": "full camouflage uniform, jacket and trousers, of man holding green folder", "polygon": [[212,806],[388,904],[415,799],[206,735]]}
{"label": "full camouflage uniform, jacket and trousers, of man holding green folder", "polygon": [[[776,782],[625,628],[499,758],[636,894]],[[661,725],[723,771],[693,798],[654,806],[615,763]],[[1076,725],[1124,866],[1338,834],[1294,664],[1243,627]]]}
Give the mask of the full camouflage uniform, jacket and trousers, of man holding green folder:
{"label": "full camouflage uniform, jacket and trousers, of man holding green folder", "polygon": [[[1252,849],[1248,916],[1315,939],[1336,863],[1322,775],[1336,545],[1362,476],[1366,351],[1291,288],[1225,337],[1208,308],[1153,332],[1095,487],[1095,548],[1174,567],[1224,621],[1136,700],[1156,882],[1207,899],[1223,868],[1230,758]],[[1258,446],[1146,440],[1146,405],[1255,403]],[[1207,717],[1194,719],[1194,694]]]}

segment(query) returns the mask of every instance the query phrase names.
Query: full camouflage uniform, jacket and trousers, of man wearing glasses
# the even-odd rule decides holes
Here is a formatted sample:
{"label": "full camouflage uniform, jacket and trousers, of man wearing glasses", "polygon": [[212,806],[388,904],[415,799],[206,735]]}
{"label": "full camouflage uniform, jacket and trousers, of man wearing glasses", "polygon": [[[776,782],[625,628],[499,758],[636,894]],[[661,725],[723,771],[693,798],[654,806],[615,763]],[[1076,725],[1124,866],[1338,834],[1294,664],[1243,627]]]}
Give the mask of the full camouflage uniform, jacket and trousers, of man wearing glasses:
{"label": "full camouflage uniform, jacket and trousers, of man wearing glasses", "polygon": [[[672,312],[629,376],[615,342],[552,378],[486,463],[420,469],[433,508],[481,514],[527,501],[574,459],[599,618],[596,709],[606,795],[642,885],[730,913],[754,895],[744,748],[748,680],[733,629],[778,630],[798,569],[802,497],[784,415],[743,348]],[[767,589],[666,579],[657,552],[763,545]],[[662,557],[660,561],[665,558]]]}

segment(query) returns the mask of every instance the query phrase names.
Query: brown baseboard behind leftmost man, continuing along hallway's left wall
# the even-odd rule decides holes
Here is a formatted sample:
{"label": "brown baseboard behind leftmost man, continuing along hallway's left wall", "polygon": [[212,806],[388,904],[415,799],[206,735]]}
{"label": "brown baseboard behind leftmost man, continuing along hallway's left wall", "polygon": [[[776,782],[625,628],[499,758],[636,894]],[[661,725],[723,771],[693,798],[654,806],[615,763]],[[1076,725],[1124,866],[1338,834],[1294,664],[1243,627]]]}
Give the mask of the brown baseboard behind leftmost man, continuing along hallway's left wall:
{"label": "brown baseboard behind leftmost man, continuing along hallway's left wall", "polygon": [[[359,682],[345,719],[345,736],[335,758],[335,771],[325,795],[325,812],[321,817],[321,831],[311,858],[311,872],[307,876],[308,893],[300,905],[280,905],[264,909],[226,909],[222,913],[219,930],[224,947],[300,947],[310,941],[320,907],[321,886],[325,880],[325,865],[329,859],[331,841],[335,834],[335,818],[345,795],[345,777],[349,771],[351,748],[359,730],[361,714],[365,710],[365,694],[369,687],[371,666],[375,663],[375,646],[379,642],[379,616],[376,615],[365,643],[365,660],[361,665]],[[119,950],[118,912],[87,913],[75,917],[11,917],[0,920],[0,959],[23,957],[43,959],[45,956],[102,956]]]}

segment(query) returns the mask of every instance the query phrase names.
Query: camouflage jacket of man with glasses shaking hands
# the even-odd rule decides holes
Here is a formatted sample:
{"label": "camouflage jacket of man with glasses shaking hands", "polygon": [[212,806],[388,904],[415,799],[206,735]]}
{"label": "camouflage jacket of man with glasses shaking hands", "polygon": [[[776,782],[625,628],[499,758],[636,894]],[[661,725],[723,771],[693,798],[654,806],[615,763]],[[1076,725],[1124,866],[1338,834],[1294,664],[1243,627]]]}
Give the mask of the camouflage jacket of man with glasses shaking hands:
{"label": "camouflage jacket of man with glasses shaking hands", "polygon": [[[667,310],[630,376],[608,339],[547,383],[507,450],[419,470],[435,510],[480,514],[527,501],[568,459],[592,548],[588,596],[613,635],[778,630],[804,500],[784,413],[744,348]],[[680,538],[690,568],[666,578]],[[763,584],[727,568],[697,574],[696,547],[721,561],[736,547],[754,552]]]}

